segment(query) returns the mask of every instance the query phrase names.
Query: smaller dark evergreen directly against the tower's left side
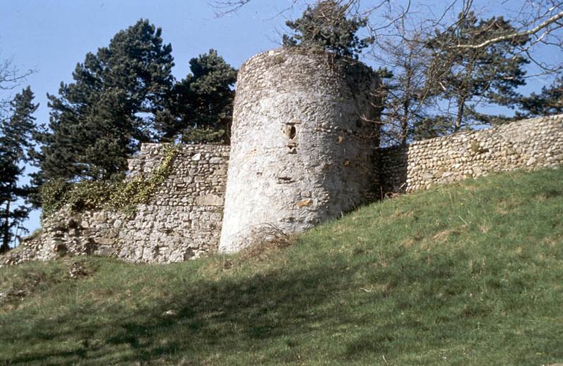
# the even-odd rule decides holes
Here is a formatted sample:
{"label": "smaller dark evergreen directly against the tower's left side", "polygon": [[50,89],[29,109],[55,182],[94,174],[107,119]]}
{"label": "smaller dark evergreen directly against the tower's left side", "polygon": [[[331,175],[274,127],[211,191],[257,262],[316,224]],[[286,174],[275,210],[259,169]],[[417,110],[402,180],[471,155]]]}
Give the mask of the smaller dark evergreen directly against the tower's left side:
{"label": "smaller dark evergreen directly against the tower's left side", "polygon": [[173,117],[165,117],[157,129],[165,140],[229,143],[236,70],[213,49],[189,60],[189,67],[191,73],[172,91]]}

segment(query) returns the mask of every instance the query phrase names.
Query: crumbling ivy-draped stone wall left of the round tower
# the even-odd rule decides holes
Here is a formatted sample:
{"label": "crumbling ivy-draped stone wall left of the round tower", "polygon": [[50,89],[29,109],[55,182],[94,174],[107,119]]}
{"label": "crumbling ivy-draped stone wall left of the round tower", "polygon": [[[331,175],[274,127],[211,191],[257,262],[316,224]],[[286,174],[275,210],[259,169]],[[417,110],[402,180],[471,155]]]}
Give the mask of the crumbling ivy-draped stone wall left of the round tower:
{"label": "crumbling ivy-draped stone wall left of the round tower", "polygon": [[[129,160],[129,174],[148,176],[164,146],[144,144]],[[219,242],[229,147],[184,145],[172,173],[134,214],[71,212],[46,218],[42,234],[23,242],[4,262],[46,260],[61,254],[100,254],[136,262],[175,262],[215,251]]]}

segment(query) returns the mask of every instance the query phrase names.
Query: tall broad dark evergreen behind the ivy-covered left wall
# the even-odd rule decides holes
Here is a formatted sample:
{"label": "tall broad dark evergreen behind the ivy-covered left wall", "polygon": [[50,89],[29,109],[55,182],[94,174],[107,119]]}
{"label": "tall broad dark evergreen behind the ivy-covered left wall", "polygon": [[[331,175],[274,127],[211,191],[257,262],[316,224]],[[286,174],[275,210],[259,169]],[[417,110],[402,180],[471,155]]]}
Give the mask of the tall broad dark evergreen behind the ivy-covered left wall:
{"label": "tall broad dark evergreen behind the ivy-covered left wall", "polygon": [[148,20],[115,34],[109,46],[88,53],[48,95],[49,133],[41,140],[44,178],[94,180],[120,176],[127,156],[153,138],[174,79],[172,46]]}

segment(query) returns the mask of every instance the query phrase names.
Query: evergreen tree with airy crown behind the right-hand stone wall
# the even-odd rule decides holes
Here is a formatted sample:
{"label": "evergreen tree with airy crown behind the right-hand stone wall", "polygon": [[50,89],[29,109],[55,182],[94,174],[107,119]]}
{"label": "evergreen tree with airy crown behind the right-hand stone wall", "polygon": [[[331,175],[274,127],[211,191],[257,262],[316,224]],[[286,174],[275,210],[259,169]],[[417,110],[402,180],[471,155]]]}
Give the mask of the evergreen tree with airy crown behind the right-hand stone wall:
{"label": "evergreen tree with airy crown behind the right-hand stone wall", "polygon": [[[493,37],[512,34],[516,29],[502,17],[478,20],[474,13],[460,14],[457,23],[436,34],[427,46],[433,51],[428,80],[433,93],[443,104],[453,106],[446,132],[455,132],[471,124],[495,124],[501,116],[486,115],[476,107],[483,104],[512,105],[519,98],[515,89],[525,84],[522,67],[528,60],[517,46],[527,36],[513,37],[479,48],[457,47],[480,44]],[[430,129],[429,129],[430,130]]]}

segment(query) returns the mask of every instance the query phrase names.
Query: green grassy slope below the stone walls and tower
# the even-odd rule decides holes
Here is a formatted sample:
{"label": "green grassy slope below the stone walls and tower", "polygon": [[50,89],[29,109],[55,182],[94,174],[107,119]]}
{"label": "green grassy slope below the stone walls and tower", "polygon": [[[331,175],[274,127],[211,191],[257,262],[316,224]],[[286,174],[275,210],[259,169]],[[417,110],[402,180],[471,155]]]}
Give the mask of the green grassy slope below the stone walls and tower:
{"label": "green grassy slope below the stone walls and tower", "polygon": [[363,207],[264,250],[0,269],[0,365],[563,362],[563,169]]}

